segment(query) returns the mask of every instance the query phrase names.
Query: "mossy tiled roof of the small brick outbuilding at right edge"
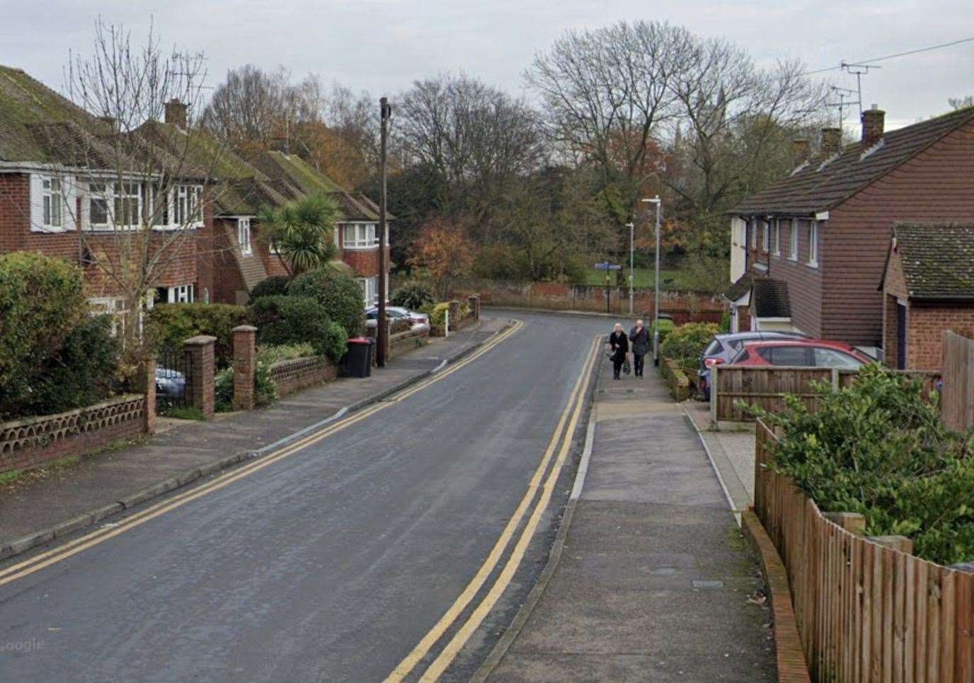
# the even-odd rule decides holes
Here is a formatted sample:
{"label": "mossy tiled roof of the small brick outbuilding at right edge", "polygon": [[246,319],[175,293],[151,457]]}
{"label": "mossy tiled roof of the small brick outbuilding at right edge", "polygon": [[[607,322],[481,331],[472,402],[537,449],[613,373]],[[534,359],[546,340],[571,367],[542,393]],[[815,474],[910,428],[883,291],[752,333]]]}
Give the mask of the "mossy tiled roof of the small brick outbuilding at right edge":
{"label": "mossy tiled roof of the small brick outbuilding at right edge", "polygon": [[974,226],[897,225],[911,299],[974,301]]}

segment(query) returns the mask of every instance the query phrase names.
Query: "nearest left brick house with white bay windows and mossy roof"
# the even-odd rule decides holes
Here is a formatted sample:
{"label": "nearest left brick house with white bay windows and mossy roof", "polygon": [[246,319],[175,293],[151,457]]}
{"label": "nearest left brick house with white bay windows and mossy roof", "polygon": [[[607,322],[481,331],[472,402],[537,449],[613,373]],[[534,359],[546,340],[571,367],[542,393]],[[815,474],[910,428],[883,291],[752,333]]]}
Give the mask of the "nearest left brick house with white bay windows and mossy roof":
{"label": "nearest left brick house with white bay windows and mossy roof", "polygon": [[[196,237],[212,221],[206,177],[187,171],[164,185],[120,153],[118,139],[113,122],[20,69],[0,66],[0,252],[35,251],[79,264],[93,304],[117,312],[126,304],[112,272],[140,235],[161,264],[151,283],[158,299],[192,301]],[[151,231],[128,227],[147,215]]]}

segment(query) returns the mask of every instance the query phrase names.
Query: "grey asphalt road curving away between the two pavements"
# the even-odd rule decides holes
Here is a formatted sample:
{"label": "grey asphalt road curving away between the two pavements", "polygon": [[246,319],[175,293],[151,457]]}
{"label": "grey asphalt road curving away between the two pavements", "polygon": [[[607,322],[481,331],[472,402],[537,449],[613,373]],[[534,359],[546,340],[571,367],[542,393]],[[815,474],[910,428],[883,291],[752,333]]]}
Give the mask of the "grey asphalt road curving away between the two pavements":
{"label": "grey asphalt road curving away between the two pavements", "polygon": [[0,566],[0,681],[412,680],[433,662],[466,680],[543,566],[611,322],[515,315],[504,342],[317,443]]}

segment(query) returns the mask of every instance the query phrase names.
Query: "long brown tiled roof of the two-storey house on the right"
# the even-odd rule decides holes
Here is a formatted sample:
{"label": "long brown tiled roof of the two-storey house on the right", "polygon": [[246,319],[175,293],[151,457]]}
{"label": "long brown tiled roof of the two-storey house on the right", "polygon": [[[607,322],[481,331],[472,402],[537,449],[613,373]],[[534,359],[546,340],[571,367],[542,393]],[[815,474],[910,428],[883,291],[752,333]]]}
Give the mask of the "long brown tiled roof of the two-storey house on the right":
{"label": "long brown tiled roof of the two-storey house on the right", "polygon": [[915,157],[959,126],[974,120],[974,107],[890,130],[872,150],[857,142],[831,160],[812,160],[798,172],[750,195],[731,213],[810,215],[826,211]]}

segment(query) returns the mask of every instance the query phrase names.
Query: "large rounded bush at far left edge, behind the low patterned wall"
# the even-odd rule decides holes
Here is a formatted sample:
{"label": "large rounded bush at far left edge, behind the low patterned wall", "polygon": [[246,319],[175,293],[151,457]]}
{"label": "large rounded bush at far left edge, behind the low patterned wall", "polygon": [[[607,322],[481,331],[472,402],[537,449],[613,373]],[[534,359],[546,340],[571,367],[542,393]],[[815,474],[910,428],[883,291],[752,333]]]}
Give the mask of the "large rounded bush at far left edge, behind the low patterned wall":
{"label": "large rounded bush at far left edge, behind the low patterned wall", "polygon": [[[26,252],[0,256],[0,418],[77,408],[84,405],[78,401],[98,394],[97,381],[114,371],[88,377],[91,366],[71,366],[84,363],[75,349],[96,334],[93,325],[76,266]],[[80,377],[74,388],[61,391],[47,381],[53,372]],[[38,395],[42,381],[58,390]],[[45,403],[49,399],[50,406]]]}

